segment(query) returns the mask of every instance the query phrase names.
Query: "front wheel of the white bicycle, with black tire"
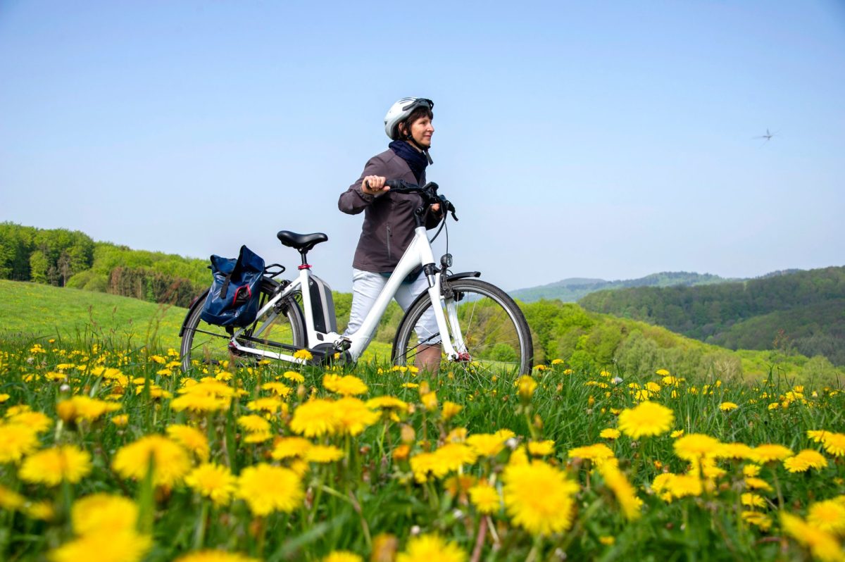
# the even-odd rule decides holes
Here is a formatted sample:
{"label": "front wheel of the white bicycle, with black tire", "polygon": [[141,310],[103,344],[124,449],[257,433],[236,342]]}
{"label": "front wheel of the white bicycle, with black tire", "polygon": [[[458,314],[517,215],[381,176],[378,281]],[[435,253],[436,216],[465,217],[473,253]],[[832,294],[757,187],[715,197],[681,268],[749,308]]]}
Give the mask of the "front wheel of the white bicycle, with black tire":
{"label": "front wheel of the white bicycle, with black tire", "polygon": [[[490,379],[493,374],[531,373],[534,360],[531,330],[522,311],[506,292],[485,281],[457,279],[444,280],[441,295],[439,306],[449,325],[452,345],[461,353],[457,360],[446,363],[448,368],[462,368],[482,379]],[[439,335],[413,337],[420,320],[425,323],[426,314],[429,319],[433,314],[428,292],[417,297],[396,331],[395,364],[413,365],[423,346],[439,344]]]}

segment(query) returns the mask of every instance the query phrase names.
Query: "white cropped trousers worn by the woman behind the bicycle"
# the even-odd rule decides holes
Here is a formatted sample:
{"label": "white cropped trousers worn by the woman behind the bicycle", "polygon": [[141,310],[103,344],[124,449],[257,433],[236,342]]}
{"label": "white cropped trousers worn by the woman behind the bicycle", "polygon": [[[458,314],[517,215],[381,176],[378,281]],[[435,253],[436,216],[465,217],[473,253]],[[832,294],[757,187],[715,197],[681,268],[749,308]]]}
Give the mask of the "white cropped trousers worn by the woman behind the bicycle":
{"label": "white cropped trousers worn by the woman behind the bicycle", "polygon": [[[361,327],[370,308],[373,308],[375,299],[379,297],[381,290],[387,285],[387,279],[387,277],[372,271],[352,268],[352,309],[349,312],[349,325],[343,332],[344,336],[354,334]],[[428,291],[428,280],[421,271],[412,283],[401,283],[394,298],[402,310],[406,311],[412,305],[414,299],[424,291]],[[414,330],[417,332],[417,338],[425,344],[440,342],[440,330],[437,327],[437,319],[434,318],[433,308],[429,307],[426,310]]]}

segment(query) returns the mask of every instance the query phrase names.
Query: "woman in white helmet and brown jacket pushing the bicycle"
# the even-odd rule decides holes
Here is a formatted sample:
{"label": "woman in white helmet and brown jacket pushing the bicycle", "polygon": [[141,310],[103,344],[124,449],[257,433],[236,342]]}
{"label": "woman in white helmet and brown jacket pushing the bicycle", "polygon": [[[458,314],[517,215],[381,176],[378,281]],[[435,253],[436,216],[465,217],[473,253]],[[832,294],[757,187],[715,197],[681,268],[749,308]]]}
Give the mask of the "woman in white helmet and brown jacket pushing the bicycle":
{"label": "woman in white helmet and brown jacket pushing the bicycle", "polygon": [[[384,132],[390,137],[388,150],[369,159],[357,182],[343,194],[337,206],[344,213],[364,212],[361,237],[352,261],[352,310],[345,334],[361,327],[390,274],[414,237],[413,212],[422,205],[416,194],[390,193],[384,185],[388,179],[403,179],[424,185],[426,166],[434,134],[431,100],[405,97],[390,107],[384,117]],[[439,222],[439,205],[432,205],[428,228]],[[422,271],[408,276],[396,292],[395,299],[407,310],[421,292],[428,290]],[[440,365],[440,343],[433,314],[424,314],[417,324],[417,337],[427,343],[417,347],[417,368],[436,372]]]}

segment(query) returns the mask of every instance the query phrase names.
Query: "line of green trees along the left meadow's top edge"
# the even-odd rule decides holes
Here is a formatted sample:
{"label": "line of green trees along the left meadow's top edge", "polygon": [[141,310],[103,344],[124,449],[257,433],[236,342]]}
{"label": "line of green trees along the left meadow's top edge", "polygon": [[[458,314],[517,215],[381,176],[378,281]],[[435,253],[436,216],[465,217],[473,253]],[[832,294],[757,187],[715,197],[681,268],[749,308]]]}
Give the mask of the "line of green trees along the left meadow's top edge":
{"label": "line of green trees along the left meadow's top edge", "polygon": [[188,306],[210,284],[207,265],[203,259],[95,242],[84,232],[0,223],[0,279]]}

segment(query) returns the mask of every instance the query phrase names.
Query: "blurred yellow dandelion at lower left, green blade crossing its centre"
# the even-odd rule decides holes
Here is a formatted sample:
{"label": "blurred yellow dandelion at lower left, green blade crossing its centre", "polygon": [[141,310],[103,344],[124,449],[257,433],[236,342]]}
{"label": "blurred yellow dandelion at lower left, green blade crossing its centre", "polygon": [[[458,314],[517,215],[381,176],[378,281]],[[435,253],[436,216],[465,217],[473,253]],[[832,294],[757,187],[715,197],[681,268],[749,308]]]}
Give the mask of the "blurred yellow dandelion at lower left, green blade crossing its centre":
{"label": "blurred yellow dandelion at lower left, green blade crossing its centre", "polygon": [[153,483],[172,486],[191,468],[188,453],[181,445],[161,435],[147,435],[123,446],[112,461],[112,468],[124,478],[143,480],[153,464]]}

